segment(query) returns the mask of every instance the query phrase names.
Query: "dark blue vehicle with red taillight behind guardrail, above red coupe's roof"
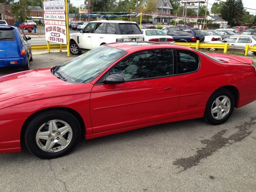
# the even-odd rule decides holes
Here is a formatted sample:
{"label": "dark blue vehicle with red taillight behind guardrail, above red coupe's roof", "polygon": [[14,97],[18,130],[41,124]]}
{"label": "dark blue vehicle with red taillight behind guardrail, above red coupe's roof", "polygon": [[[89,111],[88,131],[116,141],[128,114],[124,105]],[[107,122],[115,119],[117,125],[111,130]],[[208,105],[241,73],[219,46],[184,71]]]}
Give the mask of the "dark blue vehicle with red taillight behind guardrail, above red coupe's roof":
{"label": "dark blue vehicle with red taillight behind guardrail, above red coupe's roof", "polygon": [[200,29],[190,27],[168,28],[166,33],[174,38],[176,42],[200,42],[204,41],[204,34]]}

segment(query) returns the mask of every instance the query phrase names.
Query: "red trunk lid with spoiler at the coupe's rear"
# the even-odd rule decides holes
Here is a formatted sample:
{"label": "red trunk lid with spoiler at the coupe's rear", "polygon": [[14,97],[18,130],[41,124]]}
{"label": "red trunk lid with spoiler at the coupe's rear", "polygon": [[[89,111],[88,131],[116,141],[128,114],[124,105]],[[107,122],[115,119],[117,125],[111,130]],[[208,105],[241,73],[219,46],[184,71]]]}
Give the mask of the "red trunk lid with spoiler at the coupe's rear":
{"label": "red trunk lid with spoiler at the coupe's rear", "polygon": [[224,55],[224,54],[218,54],[218,53],[207,53],[207,55],[217,58],[224,63],[233,63],[233,64],[252,64],[253,63],[252,59],[234,56],[234,55]]}

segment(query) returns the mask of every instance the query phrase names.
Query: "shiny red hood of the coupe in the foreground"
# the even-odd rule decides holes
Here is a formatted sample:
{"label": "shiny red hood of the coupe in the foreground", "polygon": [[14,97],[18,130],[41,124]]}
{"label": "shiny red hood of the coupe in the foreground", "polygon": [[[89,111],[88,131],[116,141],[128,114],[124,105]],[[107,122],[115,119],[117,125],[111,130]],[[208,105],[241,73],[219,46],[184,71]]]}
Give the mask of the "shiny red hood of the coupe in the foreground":
{"label": "shiny red hood of the coupe in the foreground", "polygon": [[62,81],[50,68],[6,75],[0,77],[0,109],[32,100],[90,92],[84,85]]}

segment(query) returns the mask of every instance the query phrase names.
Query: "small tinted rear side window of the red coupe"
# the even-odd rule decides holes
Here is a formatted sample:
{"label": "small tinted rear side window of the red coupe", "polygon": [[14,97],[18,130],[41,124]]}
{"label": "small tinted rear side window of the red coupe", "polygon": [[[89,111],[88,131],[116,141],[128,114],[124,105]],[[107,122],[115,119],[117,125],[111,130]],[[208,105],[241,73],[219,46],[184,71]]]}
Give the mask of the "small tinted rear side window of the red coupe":
{"label": "small tinted rear side window of the red coupe", "polygon": [[186,50],[177,50],[178,74],[192,73],[199,69],[199,57],[196,53]]}

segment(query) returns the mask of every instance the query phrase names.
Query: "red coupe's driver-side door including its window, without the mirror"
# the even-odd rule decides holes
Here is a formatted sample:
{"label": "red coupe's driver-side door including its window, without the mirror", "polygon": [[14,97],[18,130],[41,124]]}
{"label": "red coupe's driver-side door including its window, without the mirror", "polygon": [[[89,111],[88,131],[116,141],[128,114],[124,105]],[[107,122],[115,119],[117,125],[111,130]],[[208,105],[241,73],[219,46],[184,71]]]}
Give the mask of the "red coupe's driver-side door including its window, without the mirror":
{"label": "red coupe's driver-side door including its window, without the mirror", "polygon": [[[125,82],[105,84],[120,74]],[[173,50],[133,53],[110,69],[93,87],[90,99],[93,132],[107,132],[176,117],[179,87]]]}

